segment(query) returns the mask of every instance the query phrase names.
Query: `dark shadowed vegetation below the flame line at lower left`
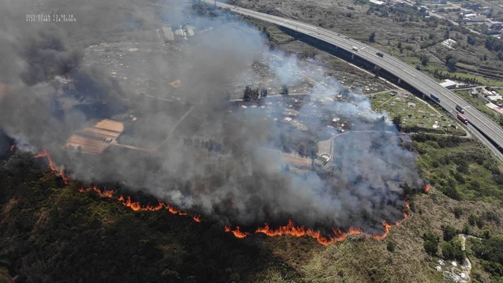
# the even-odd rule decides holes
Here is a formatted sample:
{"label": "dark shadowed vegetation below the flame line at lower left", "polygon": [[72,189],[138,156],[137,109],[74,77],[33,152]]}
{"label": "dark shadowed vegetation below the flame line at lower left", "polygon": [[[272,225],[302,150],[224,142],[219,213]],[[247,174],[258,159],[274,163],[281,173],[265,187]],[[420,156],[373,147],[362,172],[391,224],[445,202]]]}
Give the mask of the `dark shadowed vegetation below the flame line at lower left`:
{"label": "dark shadowed vegetation below the flame line at lower left", "polygon": [[236,239],[219,224],[166,211],[133,211],[116,200],[78,192],[77,183],[65,185],[47,171],[45,159],[28,153],[16,152],[0,165],[0,259],[18,275],[16,282],[298,277],[259,244]]}

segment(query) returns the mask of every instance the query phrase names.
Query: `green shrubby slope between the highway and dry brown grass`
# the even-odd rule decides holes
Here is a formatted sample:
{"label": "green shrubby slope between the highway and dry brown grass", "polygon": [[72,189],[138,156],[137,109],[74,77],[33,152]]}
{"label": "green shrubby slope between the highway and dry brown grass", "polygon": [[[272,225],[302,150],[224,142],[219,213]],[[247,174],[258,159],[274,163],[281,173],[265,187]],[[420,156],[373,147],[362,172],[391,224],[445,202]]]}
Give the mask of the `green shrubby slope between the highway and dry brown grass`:
{"label": "green shrubby slope between the highway and dry brown grass", "polygon": [[470,139],[425,134],[413,136],[420,171],[444,194],[462,200],[501,203],[501,164]]}

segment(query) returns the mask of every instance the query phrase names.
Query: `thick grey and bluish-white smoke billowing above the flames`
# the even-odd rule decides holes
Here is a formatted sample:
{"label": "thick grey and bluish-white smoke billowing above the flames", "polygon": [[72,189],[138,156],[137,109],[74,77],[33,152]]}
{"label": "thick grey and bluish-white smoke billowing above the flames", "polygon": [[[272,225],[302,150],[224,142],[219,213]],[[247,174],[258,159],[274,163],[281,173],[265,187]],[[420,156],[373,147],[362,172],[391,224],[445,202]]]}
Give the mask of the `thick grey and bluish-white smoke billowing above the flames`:
{"label": "thick grey and bluish-white smoke billowing above the flames", "polygon": [[[122,2],[114,1],[107,6],[72,1],[66,6],[96,12],[78,15],[81,33],[74,26],[20,22],[17,7],[2,5],[9,9],[0,12],[0,52],[4,55],[0,80],[7,85],[0,89],[0,127],[21,148],[48,149],[73,178],[147,191],[225,224],[255,228],[292,219],[309,228],[358,227],[367,233],[382,231],[382,222],[402,217],[401,185],[423,185],[415,157],[400,148],[396,129],[375,121],[384,114],[372,112],[366,97],[344,92],[337,81],[326,80],[322,87],[311,90],[311,102],[318,103],[318,97],[324,101],[323,107],[299,109],[299,119],[311,129],[308,133],[270,117],[286,105],[274,102],[267,110],[244,111],[227,103],[229,93],[235,96],[229,86],[269,49],[259,31],[249,25],[228,17],[193,15],[196,26],[213,29],[183,44],[177,53],[179,60],[168,62],[146,53],[143,59],[156,59],[149,70],[152,75],[176,73],[183,82],[177,92],[184,103],[164,103],[133,93],[131,85],[112,78],[103,68],[83,64],[83,50],[90,38],[101,42],[150,38],[149,29],[185,21],[190,5],[167,1],[139,8],[134,4],[122,7]],[[162,5],[164,12],[152,12]],[[103,19],[94,23],[93,19],[108,12],[113,19],[125,19],[123,24],[119,27]],[[111,34],[115,36],[107,38]],[[150,44],[152,49],[164,48],[158,45]],[[276,56],[283,58],[282,63],[268,67],[280,85],[304,77],[306,69],[295,57]],[[323,78],[322,72],[311,69],[309,73]],[[142,74],[129,77],[135,75]],[[53,84],[56,76],[70,82],[63,91]],[[153,92],[163,95],[162,89]],[[346,99],[334,102],[334,95],[340,92]],[[99,114],[89,110],[97,104],[105,105]],[[169,110],[162,111],[164,108]],[[139,143],[146,152],[111,146],[102,155],[89,157],[64,149],[72,133],[90,124],[90,116],[112,117],[140,110],[141,121],[131,134],[137,140],[150,139],[150,143]],[[313,111],[318,114],[312,115]],[[328,139],[331,135],[321,131],[327,130],[322,117],[334,113],[347,118],[352,128],[333,138],[331,166],[320,172],[291,170],[282,158],[284,136]]]}

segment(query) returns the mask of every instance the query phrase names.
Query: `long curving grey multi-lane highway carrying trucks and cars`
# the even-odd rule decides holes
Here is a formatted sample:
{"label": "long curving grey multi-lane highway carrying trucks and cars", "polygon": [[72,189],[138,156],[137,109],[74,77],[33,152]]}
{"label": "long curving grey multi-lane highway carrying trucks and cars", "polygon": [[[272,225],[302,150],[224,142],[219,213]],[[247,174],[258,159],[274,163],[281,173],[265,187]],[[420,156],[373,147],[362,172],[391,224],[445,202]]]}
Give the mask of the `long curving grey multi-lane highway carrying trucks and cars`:
{"label": "long curving grey multi-lane highway carrying trucks and cars", "polygon": [[[214,3],[213,0],[203,1],[207,2],[208,4]],[[503,153],[501,153],[500,151],[503,150],[503,128],[487,118],[480,111],[472,108],[467,102],[458,97],[456,94],[440,86],[434,79],[430,78],[428,75],[422,73],[421,71],[416,70],[407,63],[402,62],[399,59],[386,54],[372,46],[330,30],[291,19],[285,19],[273,15],[243,9],[221,2],[216,2],[216,4],[217,6],[227,8],[232,12],[291,29],[298,33],[308,35],[317,40],[326,42],[328,44],[351,52],[354,54],[354,56],[358,56],[368,62],[380,66],[381,69],[386,70],[386,72],[399,78],[401,81],[407,83],[409,86],[424,94],[425,96],[430,96],[430,94],[437,95],[440,98],[439,105],[454,116],[456,116],[457,114],[455,110],[456,105],[463,107],[465,109],[464,116],[469,121],[468,129],[476,137],[478,137],[482,141],[482,143],[486,145],[500,160],[503,161]],[[376,54],[377,52],[381,52],[383,56],[378,56]],[[492,139],[492,141],[497,145],[497,148],[493,146],[489,142],[489,140],[482,135],[482,133]]]}

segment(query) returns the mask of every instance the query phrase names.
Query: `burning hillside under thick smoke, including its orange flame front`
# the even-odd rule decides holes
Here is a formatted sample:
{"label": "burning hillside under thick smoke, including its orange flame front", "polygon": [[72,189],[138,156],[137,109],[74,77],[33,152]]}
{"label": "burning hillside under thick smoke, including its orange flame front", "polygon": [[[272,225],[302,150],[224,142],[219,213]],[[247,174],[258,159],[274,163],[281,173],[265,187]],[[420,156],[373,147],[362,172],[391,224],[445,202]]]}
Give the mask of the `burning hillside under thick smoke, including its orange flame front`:
{"label": "burning hillside under thick smoke, including its orange flame front", "polygon": [[[328,244],[358,233],[387,235],[404,218],[403,187],[424,188],[415,155],[401,148],[385,113],[372,111],[361,91],[326,76],[322,62],[273,53],[253,26],[184,11],[191,15],[184,23],[204,30],[191,40],[124,49],[98,44],[90,59],[82,52],[89,45],[75,42],[65,26],[30,25],[12,16],[18,9],[13,2],[0,11],[7,85],[0,88],[0,128],[19,150],[47,149],[37,156],[46,156],[65,181],[117,183],[158,201],[140,203],[99,186],[82,191],[134,210],[167,210],[195,222],[202,215],[238,237],[307,236]],[[137,18],[125,26],[153,30],[180,20],[170,13],[127,14]],[[101,35],[102,28],[87,31]],[[254,73],[257,65],[267,72]],[[175,80],[183,83],[166,95]],[[234,102],[243,97],[236,85],[262,88],[262,82],[284,87],[277,95],[248,87],[253,95]],[[128,113],[138,119],[117,122]],[[190,138],[184,143],[183,137]],[[148,150],[138,150],[145,145]],[[320,169],[313,160],[323,153],[331,158]]]}

